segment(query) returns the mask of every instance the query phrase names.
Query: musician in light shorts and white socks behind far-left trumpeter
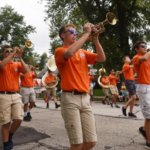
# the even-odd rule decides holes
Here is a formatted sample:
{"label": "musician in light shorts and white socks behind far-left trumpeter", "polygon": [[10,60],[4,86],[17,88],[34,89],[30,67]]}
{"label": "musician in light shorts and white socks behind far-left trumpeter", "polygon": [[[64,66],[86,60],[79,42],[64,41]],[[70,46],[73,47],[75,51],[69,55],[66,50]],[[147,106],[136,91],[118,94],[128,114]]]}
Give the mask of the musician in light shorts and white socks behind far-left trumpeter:
{"label": "musician in light shorts and white socks behind far-left trumpeter", "polygon": [[[32,119],[30,111],[34,107],[36,96],[33,87],[33,80],[37,78],[37,72],[34,67],[28,66],[28,72],[26,74],[20,74],[21,88],[20,94],[22,95],[22,102],[24,104],[24,121],[30,121]],[[30,105],[28,106],[28,104]]]}

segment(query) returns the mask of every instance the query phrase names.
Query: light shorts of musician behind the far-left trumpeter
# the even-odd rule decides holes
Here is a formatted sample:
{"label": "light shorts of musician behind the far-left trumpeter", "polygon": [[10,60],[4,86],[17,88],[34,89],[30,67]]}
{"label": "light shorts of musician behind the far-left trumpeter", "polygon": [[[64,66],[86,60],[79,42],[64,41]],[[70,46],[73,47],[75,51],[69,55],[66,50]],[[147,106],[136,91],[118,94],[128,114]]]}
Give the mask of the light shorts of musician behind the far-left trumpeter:
{"label": "light shorts of musician behind the far-left trumpeter", "polygon": [[22,95],[22,102],[24,104],[36,101],[35,91],[33,87],[31,88],[21,87],[20,94]]}

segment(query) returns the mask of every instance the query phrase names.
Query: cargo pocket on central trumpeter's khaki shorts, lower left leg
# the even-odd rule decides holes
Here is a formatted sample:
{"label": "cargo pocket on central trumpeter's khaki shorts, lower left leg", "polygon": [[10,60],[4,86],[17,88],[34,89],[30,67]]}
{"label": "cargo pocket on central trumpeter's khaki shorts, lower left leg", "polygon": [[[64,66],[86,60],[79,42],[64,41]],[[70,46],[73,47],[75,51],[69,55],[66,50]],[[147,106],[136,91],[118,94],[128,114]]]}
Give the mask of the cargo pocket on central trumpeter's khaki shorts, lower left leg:
{"label": "cargo pocket on central trumpeter's khaki shorts, lower left leg", "polygon": [[66,130],[67,130],[67,133],[68,133],[68,136],[69,136],[70,140],[78,138],[78,135],[77,135],[76,130],[75,130],[74,123],[70,122],[70,123],[66,124],[65,127],[66,127]]}

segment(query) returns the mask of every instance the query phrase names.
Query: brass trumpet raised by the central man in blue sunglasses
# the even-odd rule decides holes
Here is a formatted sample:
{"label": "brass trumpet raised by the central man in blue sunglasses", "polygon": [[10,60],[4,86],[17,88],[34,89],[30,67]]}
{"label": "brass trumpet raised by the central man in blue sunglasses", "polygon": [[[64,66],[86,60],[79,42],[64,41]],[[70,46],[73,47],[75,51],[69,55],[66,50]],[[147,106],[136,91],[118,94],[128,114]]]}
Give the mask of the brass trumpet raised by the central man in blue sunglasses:
{"label": "brass trumpet raised by the central man in blue sunglasses", "polygon": [[[117,23],[117,19],[116,19],[115,15],[111,12],[108,12],[106,14],[106,20],[105,21],[100,22],[100,23],[96,24],[95,26],[93,26],[93,28],[96,28],[98,31],[92,32],[87,40],[93,39],[96,34],[100,34],[100,33],[104,32],[105,31],[104,26],[106,24],[115,25],[116,23]],[[81,37],[83,34],[84,33],[79,34],[78,37]]]}

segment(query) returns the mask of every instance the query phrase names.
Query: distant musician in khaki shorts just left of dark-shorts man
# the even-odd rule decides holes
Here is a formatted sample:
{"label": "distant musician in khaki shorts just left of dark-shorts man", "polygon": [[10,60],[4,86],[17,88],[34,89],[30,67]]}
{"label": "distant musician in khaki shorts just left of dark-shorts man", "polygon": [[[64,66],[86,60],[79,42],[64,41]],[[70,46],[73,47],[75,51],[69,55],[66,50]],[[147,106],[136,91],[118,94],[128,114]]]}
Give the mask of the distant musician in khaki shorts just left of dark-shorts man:
{"label": "distant musician in khaki shorts just left of dark-shorts man", "polygon": [[116,76],[114,75],[114,69],[110,71],[109,75],[109,82],[110,82],[110,91],[112,93],[112,103],[111,107],[113,107],[113,103],[115,104],[116,108],[120,108],[117,105],[117,97],[119,95],[118,88],[117,88],[117,81],[120,80],[120,76],[116,73]]}

